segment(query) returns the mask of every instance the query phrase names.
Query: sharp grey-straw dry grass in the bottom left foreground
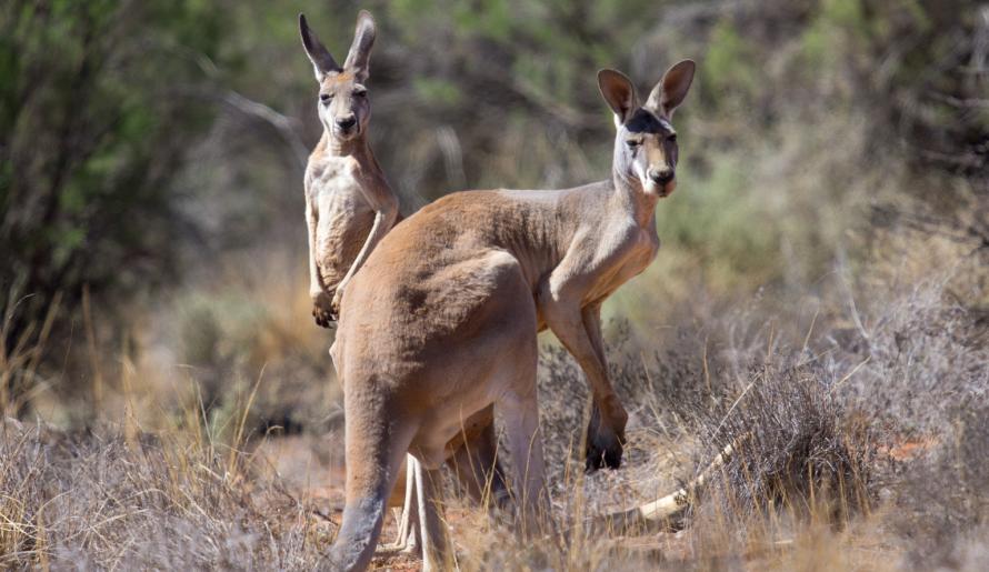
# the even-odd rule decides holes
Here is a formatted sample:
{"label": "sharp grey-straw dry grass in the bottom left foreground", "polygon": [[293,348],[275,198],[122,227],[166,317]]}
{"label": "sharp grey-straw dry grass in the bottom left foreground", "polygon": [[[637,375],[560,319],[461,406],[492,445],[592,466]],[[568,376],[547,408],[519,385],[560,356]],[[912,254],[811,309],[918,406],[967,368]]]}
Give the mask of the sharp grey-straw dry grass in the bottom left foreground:
{"label": "sharp grey-straw dry grass in the bottom left foreground", "polygon": [[0,565],[54,569],[312,568],[332,528],[238,454],[190,435],[4,424]]}

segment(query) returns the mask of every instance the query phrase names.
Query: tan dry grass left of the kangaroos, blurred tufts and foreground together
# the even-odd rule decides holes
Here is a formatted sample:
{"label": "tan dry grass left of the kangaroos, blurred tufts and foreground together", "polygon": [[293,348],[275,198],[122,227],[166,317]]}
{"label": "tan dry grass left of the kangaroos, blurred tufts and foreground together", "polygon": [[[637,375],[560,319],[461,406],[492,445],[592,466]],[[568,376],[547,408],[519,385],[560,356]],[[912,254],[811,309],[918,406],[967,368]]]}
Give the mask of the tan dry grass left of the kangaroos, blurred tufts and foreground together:
{"label": "tan dry grass left of the kangaroos, blurred tufts and foreground together", "polygon": [[[301,335],[306,289],[276,271],[288,264],[136,312],[132,347],[98,352],[102,324],[87,320],[84,367],[44,372],[32,395],[34,415],[61,428],[7,418],[0,431],[0,568],[318,563],[334,525],[260,453],[303,422],[324,429],[338,391],[324,342]],[[3,381],[41,379],[41,353],[6,357]]]}

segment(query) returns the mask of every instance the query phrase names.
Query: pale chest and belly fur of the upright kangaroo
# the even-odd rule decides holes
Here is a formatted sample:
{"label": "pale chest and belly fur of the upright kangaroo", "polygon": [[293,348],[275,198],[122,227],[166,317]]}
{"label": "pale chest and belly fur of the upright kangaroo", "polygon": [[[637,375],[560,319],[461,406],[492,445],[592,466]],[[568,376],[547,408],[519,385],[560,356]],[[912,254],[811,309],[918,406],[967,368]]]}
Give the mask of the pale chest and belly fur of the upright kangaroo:
{"label": "pale chest and belly fur of the upright kangaroo", "polygon": [[350,157],[313,158],[307,168],[316,265],[330,291],[347,275],[374,223],[374,210],[364,198],[358,172]]}

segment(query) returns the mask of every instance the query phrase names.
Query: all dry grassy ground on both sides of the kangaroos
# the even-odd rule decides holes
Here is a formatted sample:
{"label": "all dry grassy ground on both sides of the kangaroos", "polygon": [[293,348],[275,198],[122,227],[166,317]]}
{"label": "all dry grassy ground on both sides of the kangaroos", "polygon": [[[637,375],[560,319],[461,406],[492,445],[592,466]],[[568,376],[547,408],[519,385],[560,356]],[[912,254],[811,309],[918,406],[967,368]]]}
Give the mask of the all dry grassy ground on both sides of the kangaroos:
{"label": "all dry grassy ground on both sides of the kangaroos", "polygon": [[[510,523],[489,521],[454,498],[448,519],[460,566],[985,569],[983,277],[977,259],[943,259],[956,262],[873,264],[855,281],[838,272],[809,310],[791,314],[761,294],[718,317],[706,301],[685,304],[695,318],[652,337],[612,322],[612,374],[631,414],[619,471],[583,473],[576,451],[586,384],[566,352],[547,344],[540,402],[565,540],[521,542]],[[220,348],[178,368],[180,382],[162,381],[174,364],[156,369],[162,357],[147,351],[129,368],[101,372],[103,402],[122,405],[107,407],[89,429],[4,423],[0,565],[311,569],[319,562],[341,509],[332,444],[340,435],[326,422],[331,398],[313,393],[301,401],[314,413],[294,418],[301,435],[266,435],[266,420],[298,411],[293,388],[327,383],[311,365],[324,352],[321,342],[299,333],[310,328],[299,284],[272,283],[228,288],[221,298],[231,303],[176,299],[174,323],[151,338],[181,348],[160,340],[182,332],[172,327],[186,321],[193,324],[188,335],[210,334],[204,345]],[[252,305],[254,318],[223,311],[239,303]],[[207,308],[211,318],[190,307]],[[258,328],[264,332],[251,335]],[[8,360],[6,375],[30,363],[31,351],[21,352]],[[292,380],[293,371],[303,373]],[[176,387],[188,393],[169,398]],[[204,398],[210,391],[220,398]],[[676,523],[682,530],[588,525],[671,492],[727,443],[736,444],[735,454]],[[416,561],[378,564],[408,570]]]}

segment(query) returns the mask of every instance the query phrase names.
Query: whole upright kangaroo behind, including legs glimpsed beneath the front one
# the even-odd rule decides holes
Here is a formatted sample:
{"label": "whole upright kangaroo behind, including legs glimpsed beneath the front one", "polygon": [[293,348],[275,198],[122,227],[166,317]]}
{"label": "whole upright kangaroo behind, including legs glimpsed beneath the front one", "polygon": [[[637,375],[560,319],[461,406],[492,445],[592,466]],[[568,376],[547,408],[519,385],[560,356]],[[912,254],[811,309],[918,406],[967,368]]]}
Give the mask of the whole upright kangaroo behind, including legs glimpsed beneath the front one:
{"label": "whole upright kangaroo behind, including legs glimpsed beneath the front one", "polygon": [[[319,118],[323,134],[306,167],[306,220],[309,228],[309,270],[312,315],[322,327],[336,321],[340,298],[351,277],[376,244],[398,222],[398,198],[368,145],[371,106],[363,84],[369,76],[376,27],[371,14],[358,14],[353,43],[343,67],[299,14],[302,46],[319,82]],[[469,496],[505,499],[502,471],[494,459],[492,410],[476,415],[450,443],[450,465]],[[411,473],[410,473],[411,474]],[[404,484],[404,483],[400,483]],[[487,491],[484,489],[488,489]],[[414,492],[408,489],[416,501]],[[401,505],[406,489],[397,486],[391,504]],[[418,521],[407,503],[403,532],[396,543],[414,548]],[[412,545],[407,546],[408,543]]]}

